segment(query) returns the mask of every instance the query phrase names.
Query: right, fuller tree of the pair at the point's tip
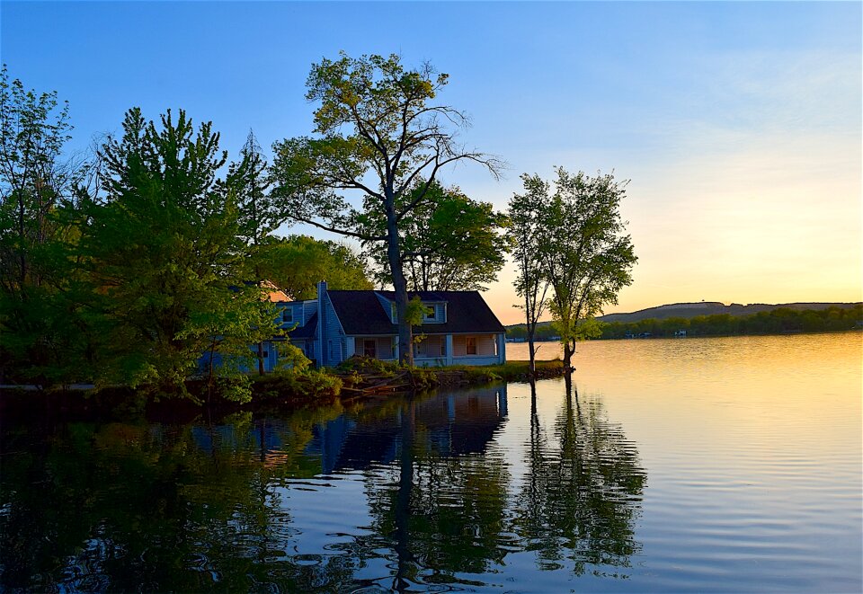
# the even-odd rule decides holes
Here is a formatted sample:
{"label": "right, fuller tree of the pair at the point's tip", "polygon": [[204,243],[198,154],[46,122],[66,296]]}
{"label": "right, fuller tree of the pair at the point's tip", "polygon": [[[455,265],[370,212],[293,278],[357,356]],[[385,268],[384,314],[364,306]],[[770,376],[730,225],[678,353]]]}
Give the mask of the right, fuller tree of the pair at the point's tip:
{"label": "right, fuller tree of the pair at the point's tip", "polygon": [[[626,223],[620,218],[620,199],[626,182],[612,174],[590,177],[556,169],[555,193],[545,196],[539,228],[543,273],[552,288],[549,309],[564,343],[564,366],[572,368],[579,324],[616,304],[621,288],[632,283],[637,258]],[[531,184],[541,184],[533,176]]]}

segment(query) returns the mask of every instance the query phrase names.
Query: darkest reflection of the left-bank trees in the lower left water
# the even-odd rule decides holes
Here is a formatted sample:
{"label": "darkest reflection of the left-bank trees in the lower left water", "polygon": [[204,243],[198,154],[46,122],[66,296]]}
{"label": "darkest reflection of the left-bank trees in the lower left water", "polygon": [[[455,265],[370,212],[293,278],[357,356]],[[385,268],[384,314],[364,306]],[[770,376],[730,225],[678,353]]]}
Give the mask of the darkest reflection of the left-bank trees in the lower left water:
{"label": "darkest reflection of the left-bank trees in the lower left water", "polygon": [[320,472],[303,450],[312,427],[341,412],[69,423],[35,441],[32,430],[4,430],[0,590],[305,591],[349,581],[346,560],[295,563],[296,534],[272,488],[285,474]]}

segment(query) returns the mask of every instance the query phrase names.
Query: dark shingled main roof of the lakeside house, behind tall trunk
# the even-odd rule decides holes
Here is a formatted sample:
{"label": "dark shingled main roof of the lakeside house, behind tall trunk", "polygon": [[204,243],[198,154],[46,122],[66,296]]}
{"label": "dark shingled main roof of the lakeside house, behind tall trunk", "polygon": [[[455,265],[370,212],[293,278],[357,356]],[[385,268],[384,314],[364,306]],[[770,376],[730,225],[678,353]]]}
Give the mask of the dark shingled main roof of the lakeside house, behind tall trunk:
{"label": "dark shingled main roof of the lakeside house, behind tall trunk", "polygon": [[[395,334],[396,324],[389,312],[381,306],[378,295],[388,301],[396,299],[394,291],[327,291],[336,315],[346,335]],[[426,334],[505,332],[503,324],[494,315],[478,291],[419,291],[408,293],[408,298],[419,296],[426,303],[445,301],[447,322],[423,324]]]}

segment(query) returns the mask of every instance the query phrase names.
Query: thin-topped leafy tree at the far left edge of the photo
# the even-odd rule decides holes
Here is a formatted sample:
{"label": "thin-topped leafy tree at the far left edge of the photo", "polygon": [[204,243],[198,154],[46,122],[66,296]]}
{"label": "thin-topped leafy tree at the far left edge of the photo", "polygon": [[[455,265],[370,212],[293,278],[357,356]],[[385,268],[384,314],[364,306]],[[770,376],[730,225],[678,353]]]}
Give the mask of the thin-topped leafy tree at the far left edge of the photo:
{"label": "thin-topped leafy tree at the far left edge of the photo", "polygon": [[78,275],[76,186],[86,166],[64,158],[72,127],[57,93],[0,73],[0,367],[16,381],[81,378],[87,331]]}

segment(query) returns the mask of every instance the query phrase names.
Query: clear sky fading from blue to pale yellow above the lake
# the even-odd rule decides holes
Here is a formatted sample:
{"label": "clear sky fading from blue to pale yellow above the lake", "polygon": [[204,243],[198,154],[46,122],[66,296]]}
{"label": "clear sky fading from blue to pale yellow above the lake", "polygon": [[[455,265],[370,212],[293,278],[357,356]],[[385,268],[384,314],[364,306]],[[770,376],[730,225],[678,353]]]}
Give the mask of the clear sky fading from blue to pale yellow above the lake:
{"label": "clear sky fading from blue to pale yellow above the lake", "polygon": [[[0,3],[11,78],[70,105],[69,149],[184,109],[236,155],[312,130],[340,50],[449,74],[467,147],[441,175],[503,209],[520,175],[613,172],[638,263],[606,313],[688,301],[863,300],[863,4]],[[283,227],[284,234],[308,232]],[[337,239],[320,233],[318,237]],[[508,265],[485,298],[520,321]]]}

